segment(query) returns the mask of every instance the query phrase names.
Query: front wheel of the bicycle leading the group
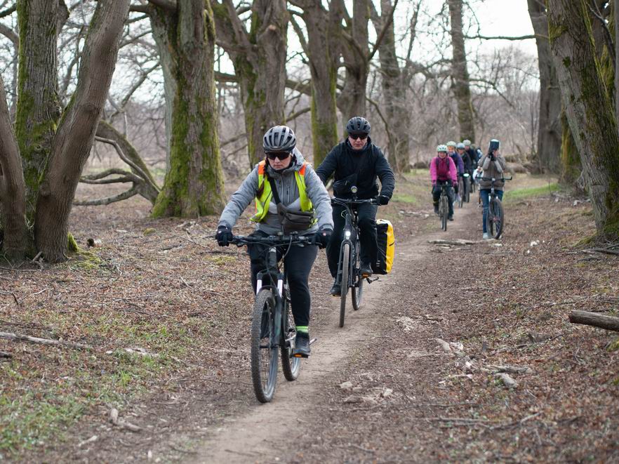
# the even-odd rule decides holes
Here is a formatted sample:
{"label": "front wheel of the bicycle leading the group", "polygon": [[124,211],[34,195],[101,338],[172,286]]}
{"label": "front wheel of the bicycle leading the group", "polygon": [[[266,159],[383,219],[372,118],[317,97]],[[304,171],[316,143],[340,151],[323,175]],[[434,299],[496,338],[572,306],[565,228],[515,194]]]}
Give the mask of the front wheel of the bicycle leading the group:
{"label": "front wheel of the bicycle leading the group", "polygon": [[[271,289],[255,296],[251,320],[251,380],[255,397],[261,403],[273,398],[277,383],[277,346],[274,340],[275,298]],[[265,318],[266,324],[262,323]]]}

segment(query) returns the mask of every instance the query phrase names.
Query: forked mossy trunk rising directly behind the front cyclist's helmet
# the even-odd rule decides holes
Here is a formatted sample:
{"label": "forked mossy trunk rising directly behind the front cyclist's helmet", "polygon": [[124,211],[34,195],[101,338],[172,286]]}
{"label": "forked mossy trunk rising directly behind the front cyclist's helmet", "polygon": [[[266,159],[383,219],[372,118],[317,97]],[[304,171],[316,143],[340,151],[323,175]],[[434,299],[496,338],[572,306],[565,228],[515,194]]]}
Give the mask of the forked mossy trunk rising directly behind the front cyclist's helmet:
{"label": "forked mossy trunk rising directly behind the front cyclist's helmet", "polygon": [[262,137],[284,124],[288,10],[285,0],[255,0],[246,31],[232,0],[211,0],[218,40],[234,64],[245,110],[250,166],[264,157]]}

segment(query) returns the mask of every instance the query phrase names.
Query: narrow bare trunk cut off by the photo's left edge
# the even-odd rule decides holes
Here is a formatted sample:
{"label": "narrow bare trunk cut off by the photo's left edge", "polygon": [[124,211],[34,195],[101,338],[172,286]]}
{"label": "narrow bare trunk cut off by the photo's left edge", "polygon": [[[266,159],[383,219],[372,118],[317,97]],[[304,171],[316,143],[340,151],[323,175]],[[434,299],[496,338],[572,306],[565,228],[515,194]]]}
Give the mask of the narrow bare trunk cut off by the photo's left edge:
{"label": "narrow bare trunk cut off by the photo's left edge", "polygon": [[20,151],[6,105],[0,76],[0,211],[4,233],[2,251],[8,260],[20,261],[27,248],[26,192]]}

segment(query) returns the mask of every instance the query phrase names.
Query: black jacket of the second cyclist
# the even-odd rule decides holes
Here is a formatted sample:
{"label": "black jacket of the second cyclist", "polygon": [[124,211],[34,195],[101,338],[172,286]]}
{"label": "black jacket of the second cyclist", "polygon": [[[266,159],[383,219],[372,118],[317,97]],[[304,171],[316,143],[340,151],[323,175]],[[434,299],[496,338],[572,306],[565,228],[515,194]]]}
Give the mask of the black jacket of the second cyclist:
{"label": "black jacket of the second cyclist", "polygon": [[352,149],[348,139],[335,145],[317,168],[316,173],[323,183],[334,174],[333,192],[340,198],[352,197],[351,185],[356,185],[359,189],[357,191],[359,199],[376,197],[377,177],[382,186],[381,195],[391,198],[395,187],[395,177],[389,161],[369,137],[366,146],[359,151]]}

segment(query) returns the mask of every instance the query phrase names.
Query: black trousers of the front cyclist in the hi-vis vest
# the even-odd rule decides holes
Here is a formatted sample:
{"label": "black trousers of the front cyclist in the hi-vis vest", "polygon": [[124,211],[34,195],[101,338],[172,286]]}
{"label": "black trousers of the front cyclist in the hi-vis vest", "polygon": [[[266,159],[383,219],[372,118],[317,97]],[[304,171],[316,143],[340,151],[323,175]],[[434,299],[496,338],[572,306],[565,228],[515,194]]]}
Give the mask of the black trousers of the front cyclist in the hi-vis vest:
{"label": "black trousers of the front cyclist in the hi-vis vest", "polygon": [[[256,230],[251,235],[258,237],[267,237],[265,232]],[[281,260],[281,256],[286,247],[277,248],[277,261]],[[251,260],[251,285],[255,291],[257,274],[267,268],[267,251],[266,245],[248,245],[247,253]],[[293,317],[295,318],[296,326],[309,325],[309,307],[311,299],[309,296],[309,271],[312,270],[314,261],[318,254],[318,246],[291,246],[290,251],[284,258],[286,263],[286,272],[288,272],[288,286],[290,287],[290,302]],[[262,282],[266,284],[266,282]],[[274,283],[274,284],[277,284]]]}

